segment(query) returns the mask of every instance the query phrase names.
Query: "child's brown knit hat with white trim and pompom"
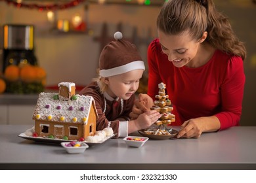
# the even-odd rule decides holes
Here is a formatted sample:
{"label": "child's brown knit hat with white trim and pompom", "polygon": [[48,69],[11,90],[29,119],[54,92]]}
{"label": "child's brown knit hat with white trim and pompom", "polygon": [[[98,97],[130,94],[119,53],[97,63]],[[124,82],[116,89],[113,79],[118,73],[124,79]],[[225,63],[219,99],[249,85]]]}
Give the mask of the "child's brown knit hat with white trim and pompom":
{"label": "child's brown knit hat with white trim and pompom", "polygon": [[107,44],[100,54],[99,75],[109,77],[137,69],[145,70],[144,61],[142,61],[135,44],[123,40],[123,35],[120,32],[116,32],[114,38],[116,41]]}

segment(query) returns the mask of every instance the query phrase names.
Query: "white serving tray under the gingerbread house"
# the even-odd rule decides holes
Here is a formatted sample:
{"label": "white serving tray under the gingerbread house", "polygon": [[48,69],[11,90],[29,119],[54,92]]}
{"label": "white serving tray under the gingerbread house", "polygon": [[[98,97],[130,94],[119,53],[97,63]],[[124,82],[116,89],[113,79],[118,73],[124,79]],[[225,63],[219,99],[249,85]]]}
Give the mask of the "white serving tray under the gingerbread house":
{"label": "white serving tray under the gingerbread house", "polygon": [[[110,137],[106,137],[104,139],[104,141],[99,141],[99,142],[83,141],[83,142],[85,142],[89,146],[96,146],[98,144],[102,144],[103,142],[108,141],[109,139],[111,139],[115,135],[116,134],[113,134]],[[60,142],[71,142],[69,140],[63,140],[63,139],[50,139],[50,138],[43,138],[43,137],[31,137],[31,136],[26,135],[25,133],[20,133],[20,135],[18,135],[18,137],[21,137],[23,139],[30,140],[30,141],[43,142],[43,143],[51,143],[51,144],[60,144]]]}

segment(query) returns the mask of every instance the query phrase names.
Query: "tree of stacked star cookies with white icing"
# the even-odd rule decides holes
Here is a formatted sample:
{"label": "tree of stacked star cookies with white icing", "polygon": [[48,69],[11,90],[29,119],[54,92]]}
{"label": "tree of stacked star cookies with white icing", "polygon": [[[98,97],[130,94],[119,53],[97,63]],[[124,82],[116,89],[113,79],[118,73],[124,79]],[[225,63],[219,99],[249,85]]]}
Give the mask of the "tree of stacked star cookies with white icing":
{"label": "tree of stacked star cookies with white icing", "polygon": [[169,95],[165,95],[165,84],[161,82],[158,84],[159,92],[156,95],[156,101],[154,101],[154,106],[151,110],[157,110],[160,112],[161,117],[155,123],[156,125],[169,125],[171,122],[175,122],[175,115],[171,113],[173,107],[171,107],[171,101],[169,100]]}

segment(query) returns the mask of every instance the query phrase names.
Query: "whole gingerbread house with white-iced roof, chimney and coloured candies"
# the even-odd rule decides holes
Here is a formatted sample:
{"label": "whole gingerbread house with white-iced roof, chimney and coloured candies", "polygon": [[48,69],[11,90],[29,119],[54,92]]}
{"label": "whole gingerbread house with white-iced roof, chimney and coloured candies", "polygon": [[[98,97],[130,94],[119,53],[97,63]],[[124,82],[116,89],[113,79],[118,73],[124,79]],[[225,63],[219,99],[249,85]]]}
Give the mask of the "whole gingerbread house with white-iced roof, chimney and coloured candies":
{"label": "whole gingerbread house with white-iced roof, chimney and coloured candies", "polygon": [[75,95],[75,84],[58,84],[58,93],[40,93],[33,112],[38,137],[79,140],[95,135],[95,101],[91,96]]}

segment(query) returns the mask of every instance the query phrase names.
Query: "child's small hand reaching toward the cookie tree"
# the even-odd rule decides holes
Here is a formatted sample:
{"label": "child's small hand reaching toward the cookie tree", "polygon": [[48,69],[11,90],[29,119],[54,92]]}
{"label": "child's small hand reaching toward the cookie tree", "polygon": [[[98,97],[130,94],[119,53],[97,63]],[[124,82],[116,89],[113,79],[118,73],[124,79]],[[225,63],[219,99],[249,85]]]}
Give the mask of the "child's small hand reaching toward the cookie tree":
{"label": "child's small hand reaching toward the cookie tree", "polygon": [[144,112],[140,114],[137,120],[135,120],[135,125],[137,126],[137,130],[145,129],[154,124],[159,118],[161,114],[156,110],[150,110],[148,112]]}

